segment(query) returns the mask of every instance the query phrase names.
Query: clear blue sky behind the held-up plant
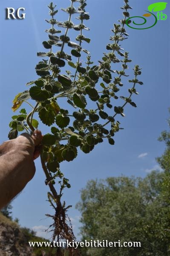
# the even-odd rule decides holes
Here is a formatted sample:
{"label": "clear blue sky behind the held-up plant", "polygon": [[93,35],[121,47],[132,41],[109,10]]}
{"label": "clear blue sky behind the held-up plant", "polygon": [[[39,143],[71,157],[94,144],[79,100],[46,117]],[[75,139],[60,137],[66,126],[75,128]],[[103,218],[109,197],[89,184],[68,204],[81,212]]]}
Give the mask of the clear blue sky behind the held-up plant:
{"label": "clear blue sky behind the held-up plant", "polygon": [[[158,2],[158,1],[157,1]],[[58,9],[69,6],[69,0],[56,0]],[[91,52],[92,61],[98,63],[106,52],[113,23],[122,17],[122,0],[87,0],[86,10],[90,13],[90,20],[86,26],[90,28],[85,34],[91,38],[91,43],[84,47]],[[130,16],[142,16],[153,1],[131,0]],[[47,0],[1,0],[0,1],[0,141],[7,140],[8,124],[13,115],[11,106],[14,96],[26,90],[26,83],[36,79],[35,65],[40,58],[36,52],[43,51],[42,41],[47,40],[45,29],[49,24]],[[25,20],[6,20],[5,8],[24,7]],[[168,14],[169,3],[163,11]],[[57,20],[68,19],[66,13],[60,11]],[[147,18],[148,20],[152,17]],[[78,219],[80,212],[75,209],[75,204],[80,200],[80,190],[86,185],[87,180],[106,178],[110,176],[139,176],[145,177],[152,169],[159,169],[155,157],[164,151],[164,144],[157,141],[161,131],[167,129],[168,107],[170,107],[169,90],[169,20],[158,21],[151,29],[137,30],[127,28],[130,38],[122,43],[122,47],[130,52],[134,64],[142,67],[140,80],[144,85],[138,85],[139,96],[133,96],[138,108],[126,106],[125,118],[119,118],[124,130],[115,135],[115,145],[107,142],[96,146],[90,154],[79,151],[78,157],[71,163],[62,163],[61,170],[72,185],[66,189],[64,200],[71,204],[69,216],[72,218],[75,235],[78,234]],[[77,23],[75,17],[72,19]],[[148,21],[149,22],[149,21]],[[74,41],[77,32],[69,31],[69,36]],[[85,61],[85,55],[82,61]],[[113,66],[114,69],[114,66]],[[131,78],[133,73],[128,70]],[[126,84],[121,95],[128,95],[130,84]],[[66,107],[65,107],[66,108]],[[43,134],[49,131],[40,125]],[[46,218],[46,213],[52,213],[46,201],[48,191],[44,184],[44,174],[40,160],[36,160],[37,172],[34,179],[26,186],[23,192],[14,200],[13,217],[20,220],[22,226],[38,231],[38,235],[45,235],[43,229],[51,224],[51,219]]]}

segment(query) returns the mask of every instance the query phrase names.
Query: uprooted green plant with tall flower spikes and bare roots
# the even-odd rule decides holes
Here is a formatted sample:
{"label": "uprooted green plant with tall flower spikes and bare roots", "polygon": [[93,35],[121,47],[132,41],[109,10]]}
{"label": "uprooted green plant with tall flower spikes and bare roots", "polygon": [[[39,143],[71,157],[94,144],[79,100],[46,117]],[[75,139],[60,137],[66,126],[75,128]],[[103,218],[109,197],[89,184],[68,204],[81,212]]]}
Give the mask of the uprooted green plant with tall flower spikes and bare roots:
{"label": "uprooted green plant with tall flower spikes and bare roots", "polygon": [[[74,4],[79,3],[78,9]],[[126,70],[128,69],[129,53],[123,52],[120,42],[127,39],[126,19],[130,17],[128,10],[129,0],[124,0],[123,9],[124,18],[119,20],[119,24],[114,24],[110,43],[107,44],[107,53],[99,61],[99,65],[92,66],[91,56],[88,50],[83,48],[84,43],[90,43],[90,38],[83,35],[83,31],[89,30],[84,21],[89,20],[89,14],[85,11],[86,0],[71,0],[71,6],[62,9],[68,13],[69,19],[65,22],[59,22],[55,19],[58,10],[56,5],[49,4],[50,20],[46,20],[51,24],[50,29],[46,29],[49,40],[43,41],[43,46],[48,52],[38,52],[37,56],[45,58],[40,61],[36,67],[36,73],[40,78],[27,83],[27,86],[33,85],[29,90],[19,93],[13,103],[13,111],[16,111],[22,103],[28,103],[32,110],[27,114],[26,109],[21,109],[18,115],[12,116],[9,132],[9,139],[17,137],[18,131],[24,129],[32,133],[38,127],[38,121],[34,118],[38,113],[43,124],[51,127],[51,133],[43,136],[41,163],[46,175],[46,185],[49,186],[48,200],[55,209],[54,219],[54,239],[74,239],[72,227],[67,224],[66,212],[70,206],[61,202],[63,189],[69,188],[69,180],[64,177],[60,171],[60,163],[64,160],[72,161],[77,157],[78,150],[89,153],[95,148],[95,145],[107,139],[111,145],[114,145],[113,136],[121,128],[120,122],[115,120],[117,115],[124,115],[124,107],[127,104],[136,107],[132,101],[132,95],[138,94],[135,85],[143,84],[137,79],[141,75],[141,69],[138,65],[134,67],[134,79],[129,80],[132,87],[129,89],[129,96],[117,96],[118,91],[124,85],[122,77],[128,77]],[[77,19],[79,24],[75,25],[72,21],[72,15],[79,15]],[[129,20],[129,23],[131,21]],[[59,35],[61,30],[57,30],[55,26],[66,29],[65,34]],[[75,29],[79,35],[75,38],[76,42],[72,42],[69,38],[69,29]],[[64,51],[64,47],[71,49],[71,55]],[[55,52],[55,47],[60,47]],[[81,56],[86,54],[87,61],[82,64]],[[72,58],[75,60],[72,61]],[[121,64],[120,70],[112,70],[111,64]],[[63,74],[63,67],[70,67],[72,71],[66,70]],[[73,73],[74,70],[74,73]],[[33,99],[35,106],[33,107],[27,100]],[[66,99],[63,109],[60,98]],[[113,100],[121,98],[124,104],[113,107]],[[88,99],[88,100],[87,100]],[[93,103],[93,109],[89,109],[88,105]],[[72,111],[66,109],[66,103],[72,106]],[[114,114],[110,114],[111,110]],[[70,113],[71,112],[71,113]],[[59,192],[55,189],[55,178],[58,181]]]}

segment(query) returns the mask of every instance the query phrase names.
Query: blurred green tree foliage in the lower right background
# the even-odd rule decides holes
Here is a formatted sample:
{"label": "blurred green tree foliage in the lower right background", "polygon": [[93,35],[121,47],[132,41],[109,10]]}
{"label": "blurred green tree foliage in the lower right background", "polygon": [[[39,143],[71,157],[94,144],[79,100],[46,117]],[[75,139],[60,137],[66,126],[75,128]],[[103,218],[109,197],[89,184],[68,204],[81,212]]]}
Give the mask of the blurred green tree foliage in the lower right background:
{"label": "blurred green tree foliage in the lower right background", "polygon": [[144,179],[91,180],[77,205],[82,239],[140,241],[141,247],[88,248],[82,255],[169,255],[170,132],[163,131],[159,140],[166,143],[164,154],[157,158],[163,172],[153,171]]}

